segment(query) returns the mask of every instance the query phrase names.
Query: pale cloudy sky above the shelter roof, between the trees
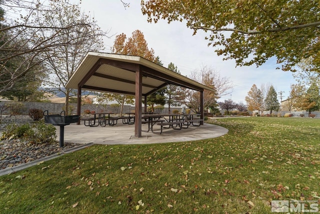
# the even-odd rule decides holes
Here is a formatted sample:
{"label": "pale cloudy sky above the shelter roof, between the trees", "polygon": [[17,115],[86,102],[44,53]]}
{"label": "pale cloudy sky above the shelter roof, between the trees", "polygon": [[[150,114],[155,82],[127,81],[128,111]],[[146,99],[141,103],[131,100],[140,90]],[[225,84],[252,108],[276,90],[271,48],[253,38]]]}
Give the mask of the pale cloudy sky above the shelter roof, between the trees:
{"label": "pale cloudy sky above the shelter roof, between the trees", "polygon": [[[207,46],[204,39],[206,33],[198,31],[192,36],[193,31],[185,26],[185,23],[160,20],[158,23],[148,23],[147,17],[141,13],[140,1],[123,0],[130,3],[124,8],[120,0],[82,0],[80,8],[91,18],[97,21],[102,31],[109,32],[109,38],[104,39],[105,50],[111,53],[115,36],[124,33],[127,38],[132,32],[139,30],[143,33],[148,44],[148,49],[154,50],[154,55],[159,56],[163,67],[171,62],[180,71],[181,75],[189,76],[192,72],[200,71],[203,66],[211,67],[221,77],[229,78],[233,84],[232,92],[221,97],[218,102],[232,99],[234,102],[243,102],[251,86],[258,88],[262,85],[272,84],[275,91],[282,92],[282,100],[289,96],[290,84],[295,84],[291,72],[277,70],[274,59],[268,60],[264,65],[256,68],[236,67],[234,60],[223,61],[214,52],[212,47]],[[71,0],[71,3],[79,3]],[[278,96],[280,101],[280,95]]]}

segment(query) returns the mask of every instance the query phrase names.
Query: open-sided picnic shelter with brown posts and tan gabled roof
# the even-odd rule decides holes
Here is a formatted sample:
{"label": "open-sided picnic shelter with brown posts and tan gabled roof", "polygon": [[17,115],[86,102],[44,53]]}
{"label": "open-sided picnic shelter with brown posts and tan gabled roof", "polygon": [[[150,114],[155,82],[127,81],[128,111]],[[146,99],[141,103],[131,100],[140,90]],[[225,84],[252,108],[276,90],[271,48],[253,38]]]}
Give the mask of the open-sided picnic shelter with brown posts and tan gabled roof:
{"label": "open-sided picnic shelter with brown posts and tan gabled roof", "polygon": [[203,90],[214,89],[138,56],[88,52],[65,88],[77,89],[78,115],[81,90],[135,96],[134,135],[141,137],[142,96],[146,107],[146,97],[168,84],[199,91],[200,118],[203,119]]}

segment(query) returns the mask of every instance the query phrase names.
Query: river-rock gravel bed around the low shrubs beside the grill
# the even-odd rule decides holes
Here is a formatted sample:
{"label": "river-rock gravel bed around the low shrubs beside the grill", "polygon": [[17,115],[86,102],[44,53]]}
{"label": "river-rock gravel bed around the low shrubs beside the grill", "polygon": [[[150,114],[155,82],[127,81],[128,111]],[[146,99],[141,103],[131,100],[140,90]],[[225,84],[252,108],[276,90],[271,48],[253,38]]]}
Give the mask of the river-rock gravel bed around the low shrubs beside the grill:
{"label": "river-rock gravel bed around the low shrubs beside the grill", "polygon": [[[0,121],[0,135],[5,127],[10,123],[30,123],[32,119],[27,115],[8,116],[2,115]],[[30,143],[24,139],[4,139],[0,141],[0,170],[6,167],[12,167],[27,163],[56,153],[73,148],[80,144],[64,142],[64,147],[59,147],[59,142],[48,143]]]}

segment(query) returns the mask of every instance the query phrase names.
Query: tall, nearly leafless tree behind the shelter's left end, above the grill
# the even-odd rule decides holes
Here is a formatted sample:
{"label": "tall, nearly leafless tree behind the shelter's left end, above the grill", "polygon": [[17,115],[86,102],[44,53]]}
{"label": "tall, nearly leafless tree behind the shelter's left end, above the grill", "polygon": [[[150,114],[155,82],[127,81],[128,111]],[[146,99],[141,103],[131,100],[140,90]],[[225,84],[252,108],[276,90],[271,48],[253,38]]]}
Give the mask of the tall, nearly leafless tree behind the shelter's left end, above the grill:
{"label": "tall, nearly leafless tree behind the shelter's left end, above the grill", "polygon": [[[59,35],[58,39],[59,43],[65,45],[41,54],[46,59],[43,63],[49,69],[49,75],[52,77],[46,81],[46,84],[65,94],[65,114],[68,114],[69,97],[72,92],[74,94],[75,92],[65,89],[64,86],[88,51],[103,49],[101,41],[106,32],[99,29],[94,19],[82,13],[79,5],[72,5],[69,0],[50,0],[49,6],[56,11],[54,14],[40,11],[36,16],[39,22],[49,23],[54,28],[61,28],[63,34]],[[65,29],[72,23],[83,25]],[[40,33],[39,36],[44,37],[47,31],[40,31]]]}

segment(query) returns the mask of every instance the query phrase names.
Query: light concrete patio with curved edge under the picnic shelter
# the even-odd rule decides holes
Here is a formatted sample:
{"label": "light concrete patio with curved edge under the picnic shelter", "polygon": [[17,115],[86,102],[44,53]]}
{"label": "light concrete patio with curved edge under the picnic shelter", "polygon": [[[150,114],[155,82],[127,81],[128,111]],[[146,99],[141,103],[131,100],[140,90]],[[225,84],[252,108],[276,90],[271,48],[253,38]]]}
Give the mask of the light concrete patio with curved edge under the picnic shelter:
{"label": "light concrete patio with curved edge under the picnic shelter", "polygon": [[[159,131],[159,127],[154,125],[154,131]],[[142,130],[146,130],[147,125],[142,125]],[[59,140],[59,127],[56,126],[57,140]],[[162,134],[152,132],[142,132],[142,137],[134,136],[134,125],[122,124],[119,120],[114,126],[88,127],[72,123],[64,127],[64,142],[70,143],[94,143],[94,144],[151,144],[166,142],[181,142],[191,140],[203,140],[219,137],[226,134],[226,128],[207,124],[201,126],[189,126],[186,129],[174,130],[164,129]]]}

